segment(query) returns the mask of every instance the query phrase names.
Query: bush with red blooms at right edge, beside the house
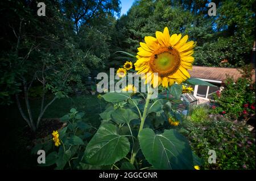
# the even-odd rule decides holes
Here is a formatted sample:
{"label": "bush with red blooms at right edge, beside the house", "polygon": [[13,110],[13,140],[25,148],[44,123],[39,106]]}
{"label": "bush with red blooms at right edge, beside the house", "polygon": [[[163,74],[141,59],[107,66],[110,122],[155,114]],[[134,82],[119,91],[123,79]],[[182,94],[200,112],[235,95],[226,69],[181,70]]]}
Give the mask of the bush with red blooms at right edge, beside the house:
{"label": "bush with red blooms at right edge, beside the house", "polygon": [[221,113],[233,119],[249,119],[255,115],[255,82],[251,79],[250,66],[243,68],[242,77],[235,82],[232,77],[224,81],[224,90],[214,96],[216,105],[211,113]]}

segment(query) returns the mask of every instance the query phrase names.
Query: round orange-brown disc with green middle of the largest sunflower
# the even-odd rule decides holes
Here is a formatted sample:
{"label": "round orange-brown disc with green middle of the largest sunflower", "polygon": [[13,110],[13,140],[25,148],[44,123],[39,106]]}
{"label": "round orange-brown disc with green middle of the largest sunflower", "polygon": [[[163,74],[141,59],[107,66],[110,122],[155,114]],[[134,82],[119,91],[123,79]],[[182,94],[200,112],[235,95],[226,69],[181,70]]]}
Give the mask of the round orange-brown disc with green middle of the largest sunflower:
{"label": "round orange-brown disc with green middle of the largest sunflower", "polygon": [[174,48],[162,47],[150,57],[150,68],[160,77],[174,74],[180,66],[180,56]]}

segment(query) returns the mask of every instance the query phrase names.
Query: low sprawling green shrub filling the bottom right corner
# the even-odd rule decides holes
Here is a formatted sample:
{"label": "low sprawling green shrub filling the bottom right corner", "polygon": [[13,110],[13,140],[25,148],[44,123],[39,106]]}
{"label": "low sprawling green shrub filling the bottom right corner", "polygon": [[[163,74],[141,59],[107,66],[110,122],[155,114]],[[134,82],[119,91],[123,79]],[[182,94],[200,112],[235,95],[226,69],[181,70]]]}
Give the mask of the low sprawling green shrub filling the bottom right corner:
{"label": "low sprawling green shrub filling the bottom right corner", "polygon": [[[255,138],[244,124],[215,115],[200,124],[188,121],[185,129],[202,169],[255,169]],[[216,151],[216,163],[208,163],[209,150]]]}

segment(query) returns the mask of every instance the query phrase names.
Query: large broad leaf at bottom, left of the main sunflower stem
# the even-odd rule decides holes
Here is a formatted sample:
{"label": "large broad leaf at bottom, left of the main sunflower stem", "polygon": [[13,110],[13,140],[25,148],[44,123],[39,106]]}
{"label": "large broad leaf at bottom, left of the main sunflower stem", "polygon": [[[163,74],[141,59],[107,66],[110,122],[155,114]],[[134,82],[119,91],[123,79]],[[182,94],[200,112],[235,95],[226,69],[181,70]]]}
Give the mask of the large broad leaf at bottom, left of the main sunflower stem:
{"label": "large broad leaf at bottom, left of the main sunflower stem", "polygon": [[90,165],[110,165],[124,158],[129,150],[128,138],[119,135],[114,124],[105,123],[90,140],[84,154]]}

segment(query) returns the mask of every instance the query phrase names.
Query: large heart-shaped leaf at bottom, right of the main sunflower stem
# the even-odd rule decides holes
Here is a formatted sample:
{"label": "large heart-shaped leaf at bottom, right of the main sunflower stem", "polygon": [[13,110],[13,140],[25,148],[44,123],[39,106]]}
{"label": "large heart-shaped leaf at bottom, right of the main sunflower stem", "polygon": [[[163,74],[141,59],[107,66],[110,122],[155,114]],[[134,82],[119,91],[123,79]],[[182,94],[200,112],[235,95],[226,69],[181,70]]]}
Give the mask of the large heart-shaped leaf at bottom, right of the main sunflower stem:
{"label": "large heart-shaped leaf at bottom, right of the main sunflower stem", "polygon": [[191,147],[174,129],[155,134],[150,128],[139,132],[142,153],[155,169],[193,169]]}

